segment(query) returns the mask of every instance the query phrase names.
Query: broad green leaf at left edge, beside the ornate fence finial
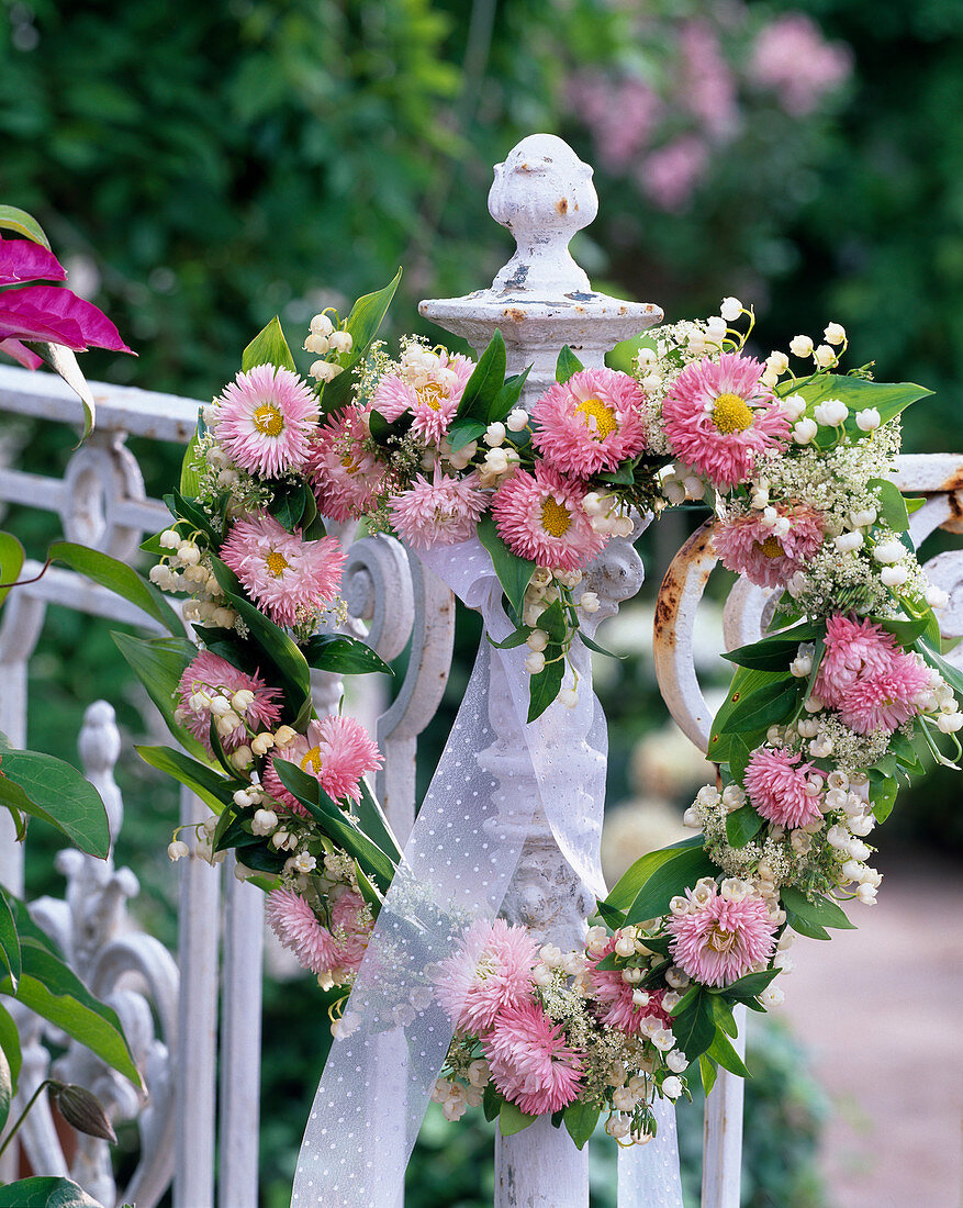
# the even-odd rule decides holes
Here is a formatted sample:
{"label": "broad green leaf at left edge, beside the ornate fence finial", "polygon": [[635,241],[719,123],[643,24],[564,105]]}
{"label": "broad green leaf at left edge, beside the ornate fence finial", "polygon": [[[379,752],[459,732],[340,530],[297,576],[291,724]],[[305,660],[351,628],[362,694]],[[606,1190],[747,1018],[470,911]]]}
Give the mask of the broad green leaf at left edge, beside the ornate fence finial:
{"label": "broad green leaf at left edge, beside the ornate fence finial", "polygon": [[103,859],[110,852],[110,827],[100,794],[81,772],[53,755],[5,751],[0,761],[0,800],[56,826],[88,855]]}

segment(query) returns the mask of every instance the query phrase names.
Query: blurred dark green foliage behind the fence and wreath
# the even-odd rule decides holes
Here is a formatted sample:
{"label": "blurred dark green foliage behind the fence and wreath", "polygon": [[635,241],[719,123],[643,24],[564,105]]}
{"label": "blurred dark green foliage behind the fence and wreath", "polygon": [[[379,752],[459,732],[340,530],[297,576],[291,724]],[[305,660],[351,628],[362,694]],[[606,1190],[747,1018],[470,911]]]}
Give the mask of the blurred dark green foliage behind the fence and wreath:
{"label": "blurred dark green foliage behind the fence and wreath", "polygon": [[[851,79],[791,118],[741,77],[738,129],[688,204],[667,213],[597,155],[573,104],[573,75],[671,89],[675,36],[696,18],[715,23],[737,71],[755,31],[793,5],[652,0],[643,16],[643,6],[616,0],[0,0],[0,197],[37,215],[75,286],[86,277],[140,354],[91,353],[88,377],[203,399],[274,313],[296,338],[315,310],[343,307],[404,265],[389,320],[396,333],[418,326],[419,297],[486,284],[511,244],[486,213],[489,165],[527,133],[559,133],[597,164],[601,215],[574,251],[599,286],[656,301],[669,319],[710,313],[735,292],[756,304],[764,355],[841,321],[853,364],[875,356],[881,378],[936,390],[911,413],[907,448],[946,447],[958,429],[963,343],[963,8],[956,0],[797,7],[852,47]],[[42,472],[58,472],[72,443],[63,429],[25,423],[4,440],[21,467]],[[146,454],[147,489],[158,494],[179,452],[132,447]],[[5,524],[35,557],[57,530],[51,517],[21,510]],[[685,521],[674,524],[646,534],[650,585],[684,535]],[[476,640],[469,620],[465,658]],[[465,674],[459,664],[425,766]],[[31,745],[72,757],[93,684],[124,732],[140,736],[149,712],[106,627],[51,609],[31,663]],[[610,701],[615,798],[627,792],[632,744],[660,720],[656,705],[639,662],[620,664]],[[150,929],[170,941],[163,847],[175,794],[133,759],[120,777],[128,817],[118,860],[138,871]],[[888,829],[959,842],[949,782]],[[42,871],[54,841],[35,829],[31,846],[31,890],[56,889]],[[320,1062],[317,1001],[303,982],[268,988],[271,1206],[284,1202],[303,1119],[297,1099],[311,1090],[304,1052]],[[755,1208],[819,1202],[804,1186],[818,1113],[810,1104],[776,1119],[784,1092],[771,1070],[753,1092],[795,1154],[772,1184],[755,1172],[773,1160],[753,1158]],[[488,1143],[472,1129],[449,1136],[427,1133],[422,1169],[439,1191],[424,1208],[475,1203],[476,1175],[458,1191],[458,1172],[475,1171],[472,1155]]]}

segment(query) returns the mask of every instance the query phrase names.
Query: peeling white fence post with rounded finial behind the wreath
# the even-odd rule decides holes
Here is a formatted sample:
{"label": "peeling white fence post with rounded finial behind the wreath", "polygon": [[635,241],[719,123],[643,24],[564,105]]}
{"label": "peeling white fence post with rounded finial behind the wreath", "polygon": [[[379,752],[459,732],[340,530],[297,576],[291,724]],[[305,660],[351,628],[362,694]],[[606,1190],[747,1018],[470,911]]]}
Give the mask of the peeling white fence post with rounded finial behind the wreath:
{"label": "peeling white fence post with rounded finial behind the wreath", "polygon": [[[495,167],[488,196],[492,217],[516,239],[515,255],[489,290],[420,304],[423,315],[464,336],[476,349],[500,330],[509,372],[518,373],[533,365],[523,395],[527,406],[555,381],[556,358],[563,344],[573,348],[586,366],[601,366],[605,353],[620,339],[638,335],[662,318],[655,306],[594,292],[569,255],[569,240],[598,211],[591,176],[592,169],[551,134],[535,134],[520,143],[505,163]],[[642,564],[622,540],[610,542],[592,574],[591,586],[599,592],[603,616],[614,612],[617,602],[634,594],[642,583]],[[585,691],[588,687],[585,685]],[[495,734],[507,734],[505,691],[494,674],[489,715]],[[501,784],[507,802],[533,791],[534,785],[527,780],[530,762],[518,759],[511,743],[497,742],[482,759]],[[570,792],[573,811],[584,808],[580,786],[572,785]],[[591,907],[591,894],[558,850],[544,814],[536,813],[505,913],[565,949],[582,942]],[[587,1206],[588,1151],[579,1151],[564,1129],[541,1120],[515,1137],[499,1137],[495,1155],[497,1208]]]}

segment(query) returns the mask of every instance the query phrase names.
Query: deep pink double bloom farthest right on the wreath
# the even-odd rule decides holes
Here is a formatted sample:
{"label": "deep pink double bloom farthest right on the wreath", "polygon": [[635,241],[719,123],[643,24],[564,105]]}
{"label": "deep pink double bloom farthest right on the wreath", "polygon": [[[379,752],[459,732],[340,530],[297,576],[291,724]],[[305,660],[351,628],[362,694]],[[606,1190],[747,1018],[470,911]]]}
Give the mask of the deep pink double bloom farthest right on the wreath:
{"label": "deep pink double bloom farthest right on the wreath", "polygon": [[915,697],[928,685],[927,667],[882,626],[840,614],[826,621],[813,691],[851,730],[892,732],[920,712]]}

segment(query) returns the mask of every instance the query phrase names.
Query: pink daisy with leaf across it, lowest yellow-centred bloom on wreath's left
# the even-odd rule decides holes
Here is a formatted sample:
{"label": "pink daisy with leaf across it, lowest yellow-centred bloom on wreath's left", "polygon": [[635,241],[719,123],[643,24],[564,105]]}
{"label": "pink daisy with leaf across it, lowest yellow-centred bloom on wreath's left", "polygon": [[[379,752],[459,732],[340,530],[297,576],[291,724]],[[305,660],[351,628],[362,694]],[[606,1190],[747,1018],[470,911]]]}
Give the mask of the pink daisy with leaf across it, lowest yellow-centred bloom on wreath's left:
{"label": "pink daisy with leaf across it, lowest yellow-centred bloom on wreath's left", "polygon": [[286,747],[275,749],[265,769],[265,788],[272,797],[295,813],[303,807],[282,784],[274,760],[295,763],[315,777],[332,801],[361,800],[360,780],[382,766],[382,756],[356,718],[329,715],[309,721],[307,734],[298,734]]}

